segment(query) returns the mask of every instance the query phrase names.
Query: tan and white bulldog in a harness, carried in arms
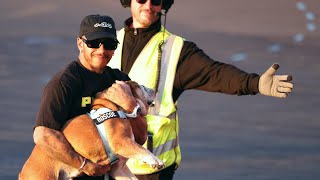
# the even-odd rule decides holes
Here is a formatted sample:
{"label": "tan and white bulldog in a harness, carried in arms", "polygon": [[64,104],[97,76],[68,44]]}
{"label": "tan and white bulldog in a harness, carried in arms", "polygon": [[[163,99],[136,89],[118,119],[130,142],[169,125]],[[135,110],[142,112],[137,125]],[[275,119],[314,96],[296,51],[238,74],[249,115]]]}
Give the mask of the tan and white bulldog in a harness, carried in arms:
{"label": "tan and white bulldog in a harness, carried in arms", "polygon": [[[137,179],[126,166],[128,158],[144,161],[152,168],[161,169],[164,167],[164,163],[149,150],[139,145],[134,137],[134,134],[139,134],[134,132],[141,131],[139,129],[141,127],[134,126],[134,121],[146,122],[144,116],[147,114],[148,106],[153,101],[155,93],[136,82],[127,81],[126,83],[130,86],[132,94],[140,106],[140,115],[136,118],[125,118],[123,114],[121,115],[123,112],[121,106],[111,102],[104,92],[100,92],[93,100],[92,111],[69,120],[62,130],[71,146],[81,156],[95,163],[111,162],[109,173],[114,179]],[[145,137],[138,138],[145,140],[146,133]],[[19,179],[62,180],[81,175],[83,175],[81,170],[52,159],[35,145],[19,173]],[[105,177],[107,179],[108,175]]]}

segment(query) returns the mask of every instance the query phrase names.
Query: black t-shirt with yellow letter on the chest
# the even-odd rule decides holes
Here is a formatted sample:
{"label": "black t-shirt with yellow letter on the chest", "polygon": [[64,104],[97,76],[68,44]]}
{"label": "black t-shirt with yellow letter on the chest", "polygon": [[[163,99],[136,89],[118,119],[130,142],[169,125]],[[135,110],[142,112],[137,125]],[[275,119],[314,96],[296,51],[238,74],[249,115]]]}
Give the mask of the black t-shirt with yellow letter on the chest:
{"label": "black t-shirt with yellow letter on the chest", "polygon": [[127,74],[106,66],[102,74],[89,71],[73,61],[56,74],[44,88],[35,126],[61,130],[64,123],[90,112],[97,92],[110,87],[115,80],[130,80]]}

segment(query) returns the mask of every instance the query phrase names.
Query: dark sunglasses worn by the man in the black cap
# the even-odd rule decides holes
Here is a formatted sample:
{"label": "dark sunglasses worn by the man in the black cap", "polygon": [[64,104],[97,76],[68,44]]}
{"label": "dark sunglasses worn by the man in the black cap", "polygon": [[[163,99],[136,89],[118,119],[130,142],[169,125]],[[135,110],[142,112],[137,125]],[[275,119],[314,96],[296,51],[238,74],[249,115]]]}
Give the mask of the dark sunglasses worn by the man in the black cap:
{"label": "dark sunglasses worn by the man in the black cap", "polygon": [[87,44],[88,48],[99,48],[103,44],[103,48],[106,50],[116,50],[118,42],[113,39],[94,39],[86,40],[80,38],[84,43]]}

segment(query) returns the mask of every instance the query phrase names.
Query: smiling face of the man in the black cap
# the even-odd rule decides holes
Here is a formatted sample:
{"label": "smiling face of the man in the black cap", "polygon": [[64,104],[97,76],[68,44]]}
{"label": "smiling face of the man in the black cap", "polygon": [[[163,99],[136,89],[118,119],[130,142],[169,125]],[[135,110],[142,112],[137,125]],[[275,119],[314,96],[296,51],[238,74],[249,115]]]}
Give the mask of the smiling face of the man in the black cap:
{"label": "smiling face of the man in the black cap", "polygon": [[[77,39],[77,44],[80,51],[80,61],[82,65],[90,71],[101,73],[105,66],[109,63],[114,53],[114,50],[106,49],[107,45],[104,44],[111,41],[110,39],[97,39],[96,41],[88,41],[85,43],[85,39],[86,38],[84,36]],[[98,43],[98,46],[92,47],[92,44],[96,45],[94,43]]]}

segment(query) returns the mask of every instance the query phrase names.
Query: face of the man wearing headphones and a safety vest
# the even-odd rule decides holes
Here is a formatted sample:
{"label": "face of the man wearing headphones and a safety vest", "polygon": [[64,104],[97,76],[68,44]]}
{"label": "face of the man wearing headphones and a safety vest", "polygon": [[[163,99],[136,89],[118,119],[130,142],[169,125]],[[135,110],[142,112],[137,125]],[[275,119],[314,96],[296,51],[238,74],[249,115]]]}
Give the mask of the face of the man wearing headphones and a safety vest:
{"label": "face of the man wearing headphones and a safety vest", "polygon": [[160,17],[157,13],[161,11],[161,4],[158,6],[152,5],[151,0],[146,0],[144,4],[137,1],[139,0],[131,0],[133,27],[147,28]]}

